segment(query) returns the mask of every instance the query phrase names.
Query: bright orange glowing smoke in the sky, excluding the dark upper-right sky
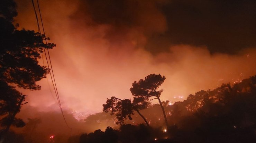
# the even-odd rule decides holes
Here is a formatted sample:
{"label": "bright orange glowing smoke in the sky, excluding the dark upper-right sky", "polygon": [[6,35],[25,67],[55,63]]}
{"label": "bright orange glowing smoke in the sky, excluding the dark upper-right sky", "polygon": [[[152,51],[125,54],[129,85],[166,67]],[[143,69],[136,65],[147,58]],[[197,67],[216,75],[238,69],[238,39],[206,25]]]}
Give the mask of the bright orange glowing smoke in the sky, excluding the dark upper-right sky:
{"label": "bright orange glowing smoke in the sky, excluding the dark upper-right sky", "polygon": [[[81,1],[39,0],[46,36],[57,46],[50,50],[56,84],[64,110],[84,115],[102,111],[107,97],[132,98],[135,80],[156,73],[166,77],[162,101],[177,101],[201,89],[216,88],[256,74],[256,49],[236,55],[210,54],[205,46],[179,44],[169,51],[145,50],[149,35],[164,33],[165,15],[152,3],[136,15],[136,26],[95,22],[77,13]],[[36,30],[31,1],[17,1],[20,28]],[[143,8],[144,8],[143,7]],[[42,64],[42,61],[40,61]],[[49,80],[49,86],[47,84]],[[50,77],[39,81],[40,91],[23,91],[30,106],[59,111]]]}

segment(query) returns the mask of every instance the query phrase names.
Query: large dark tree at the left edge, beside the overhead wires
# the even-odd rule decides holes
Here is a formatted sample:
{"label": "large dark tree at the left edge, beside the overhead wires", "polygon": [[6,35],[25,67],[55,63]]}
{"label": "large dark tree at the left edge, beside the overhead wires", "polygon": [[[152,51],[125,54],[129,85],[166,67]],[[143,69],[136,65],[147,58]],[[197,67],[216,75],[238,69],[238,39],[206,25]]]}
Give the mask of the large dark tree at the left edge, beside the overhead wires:
{"label": "large dark tree at the left edge, beside the overhead wires", "polygon": [[[49,69],[38,64],[44,48],[51,49],[53,43],[47,45],[43,40],[49,40],[44,35],[30,30],[17,30],[12,24],[17,16],[16,3],[13,0],[0,1],[0,116],[1,126],[10,124],[15,112],[19,112],[17,104],[21,93],[16,86],[23,89],[39,90],[36,84],[46,77]],[[18,24],[17,24],[18,25]],[[22,126],[21,119],[14,119],[17,127]],[[23,125],[25,125],[23,123]]]}

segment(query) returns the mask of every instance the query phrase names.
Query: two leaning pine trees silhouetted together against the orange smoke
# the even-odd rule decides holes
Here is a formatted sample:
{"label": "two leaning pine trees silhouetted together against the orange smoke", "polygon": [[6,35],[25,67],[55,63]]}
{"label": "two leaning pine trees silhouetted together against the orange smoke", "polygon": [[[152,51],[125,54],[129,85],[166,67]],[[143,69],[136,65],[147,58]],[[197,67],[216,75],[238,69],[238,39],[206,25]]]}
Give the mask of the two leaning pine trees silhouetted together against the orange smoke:
{"label": "two leaning pine trees silhouetted together against the orange smoke", "polygon": [[[134,100],[132,102],[131,99],[122,100],[113,96],[111,98],[107,98],[106,104],[103,104],[103,111],[110,111],[111,115],[115,114],[117,119],[116,123],[121,125],[127,117],[132,120],[131,115],[134,114],[135,110],[149,126],[148,121],[139,110],[147,108],[151,100],[158,99],[163,111],[166,126],[168,126],[165,111],[159,98],[163,90],[157,90],[159,86],[164,83],[164,80],[165,77],[160,74],[150,74],[146,76],[145,79],[140,79],[138,82],[134,81],[130,88],[131,94],[134,96]],[[155,98],[152,99],[151,97]]]}

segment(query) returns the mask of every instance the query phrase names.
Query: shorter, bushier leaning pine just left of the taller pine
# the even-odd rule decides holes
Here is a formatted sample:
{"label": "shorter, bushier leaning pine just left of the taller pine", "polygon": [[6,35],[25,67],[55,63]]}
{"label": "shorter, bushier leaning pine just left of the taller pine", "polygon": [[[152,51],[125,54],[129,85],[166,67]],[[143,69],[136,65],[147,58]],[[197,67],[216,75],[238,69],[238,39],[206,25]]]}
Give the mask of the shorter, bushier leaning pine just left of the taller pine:
{"label": "shorter, bushier leaning pine just left of the taller pine", "polygon": [[[135,99],[134,101],[137,101]],[[103,104],[103,111],[111,111],[111,115],[116,114],[117,124],[124,123],[124,120],[129,118],[132,120],[131,115],[133,115],[134,110],[143,118],[145,123],[149,126],[146,118],[139,112],[139,110],[146,108],[144,104],[138,105],[137,102],[132,103],[130,99],[119,99],[116,97],[107,98],[106,104]]]}

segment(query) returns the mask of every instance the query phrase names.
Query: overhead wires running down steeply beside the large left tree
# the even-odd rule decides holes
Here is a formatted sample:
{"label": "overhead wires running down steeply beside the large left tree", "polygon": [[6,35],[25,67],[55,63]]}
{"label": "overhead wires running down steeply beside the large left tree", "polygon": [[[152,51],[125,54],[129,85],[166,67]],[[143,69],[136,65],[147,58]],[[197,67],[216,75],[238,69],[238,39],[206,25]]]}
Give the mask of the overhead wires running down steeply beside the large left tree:
{"label": "overhead wires running down steeply beside the large left tree", "polygon": [[[33,4],[33,7],[34,7],[34,11],[35,11],[35,14],[36,14],[36,20],[37,20],[37,27],[38,27],[38,31],[41,34],[41,31],[40,31],[40,26],[39,26],[39,22],[38,22],[38,17],[37,17],[37,13],[36,13],[36,9],[35,9],[35,4],[34,4],[34,0],[32,0],[32,4]],[[43,34],[44,34],[44,39],[45,39],[45,44],[46,46],[48,45],[47,43],[47,40],[46,40],[46,35],[45,35],[45,30],[44,30],[44,25],[43,25],[43,20],[42,20],[42,15],[41,15],[41,11],[40,11],[40,7],[39,7],[39,2],[37,0],[37,6],[38,6],[38,10],[39,10],[39,15],[40,15],[40,20],[41,20],[41,24],[42,24],[42,28],[43,28]],[[43,37],[42,37],[43,38]],[[62,106],[61,106],[61,101],[60,101],[60,96],[58,94],[58,90],[57,90],[57,85],[56,85],[56,81],[55,81],[55,77],[54,77],[54,73],[53,73],[53,67],[52,67],[52,62],[51,62],[51,57],[50,57],[50,54],[49,54],[49,49],[47,49],[47,53],[48,53],[48,57],[49,57],[49,62],[48,62],[48,59],[47,59],[47,55],[46,55],[46,51],[45,51],[45,47],[43,48],[44,49],[44,53],[45,53],[45,57],[46,57],[46,63],[47,63],[47,66],[48,68],[50,69],[49,70],[49,73],[50,73],[50,76],[51,76],[51,80],[52,80],[52,84],[53,84],[53,88],[54,88],[54,91],[55,91],[55,95],[56,95],[56,98],[57,98],[57,101],[58,101],[58,104],[59,104],[59,107],[60,107],[60,110],[61,110],[61,113],[62,113],[62,116],[63,116],[63,119],[67,125],[68,128],[70,128],[70,126],[68,126],[67,124],[67,121],[65,119],[65,116],[64,116],[64,113],[63,113],[63,110],[62,110]],[[51,66],[49,66],[49,63]],[[52,70],[52,73],[51,73],[51,70]],[[71,129],[71,132],[72,132],[72,128]]]}

